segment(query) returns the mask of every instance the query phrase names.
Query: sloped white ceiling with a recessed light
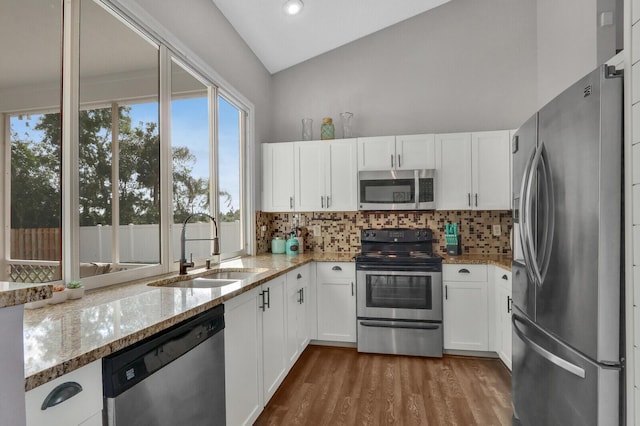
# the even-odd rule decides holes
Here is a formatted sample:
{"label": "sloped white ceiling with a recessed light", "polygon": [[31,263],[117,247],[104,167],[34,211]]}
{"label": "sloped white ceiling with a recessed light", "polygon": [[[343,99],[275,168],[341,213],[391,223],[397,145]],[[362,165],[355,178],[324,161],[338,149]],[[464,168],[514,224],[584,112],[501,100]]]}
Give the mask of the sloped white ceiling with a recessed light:
{"label": "sloped white ceiling with a recessed light", "polygon": [[449,0],[212,0],[270,73],[304,62]]}

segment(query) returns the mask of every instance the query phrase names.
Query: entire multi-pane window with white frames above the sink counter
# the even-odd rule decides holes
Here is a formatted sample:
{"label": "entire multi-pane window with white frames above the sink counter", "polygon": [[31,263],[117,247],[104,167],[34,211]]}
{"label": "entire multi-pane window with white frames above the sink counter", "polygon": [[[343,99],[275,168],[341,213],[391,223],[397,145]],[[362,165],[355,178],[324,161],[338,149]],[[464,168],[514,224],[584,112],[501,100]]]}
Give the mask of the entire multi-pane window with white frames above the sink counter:
{"label": "entire multi-pane window with white frames above the sink counter", "polygon": [[[176,270],[182,223],[194,213],[215,217],[223,259],[244,254],[248,103],[220,95],[206,69],[109,0],[5,3],[0,37],[12,43],[0,61],[0,168],[11,179],[0,279],[81,278],[92,288]],[[78,8],[79,23],[65,20]],[[77,51],[62,43],[63,28],[79,34]],[[193,219],[188,236],[202,241],[187,249],[203,262],[214,226]]]}

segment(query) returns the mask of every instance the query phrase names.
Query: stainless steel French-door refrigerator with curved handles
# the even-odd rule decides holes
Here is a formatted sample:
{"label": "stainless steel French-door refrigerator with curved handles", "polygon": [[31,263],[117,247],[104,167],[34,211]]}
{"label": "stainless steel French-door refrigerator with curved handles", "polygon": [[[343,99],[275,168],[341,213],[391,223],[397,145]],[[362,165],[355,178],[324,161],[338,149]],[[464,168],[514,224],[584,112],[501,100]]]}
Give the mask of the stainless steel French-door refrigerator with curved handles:
{"label": "stainless steel French-door refrigerator with curved handles", "polygon": [[514,135],[514,424],[622,423],[622,108],[602,66]]}

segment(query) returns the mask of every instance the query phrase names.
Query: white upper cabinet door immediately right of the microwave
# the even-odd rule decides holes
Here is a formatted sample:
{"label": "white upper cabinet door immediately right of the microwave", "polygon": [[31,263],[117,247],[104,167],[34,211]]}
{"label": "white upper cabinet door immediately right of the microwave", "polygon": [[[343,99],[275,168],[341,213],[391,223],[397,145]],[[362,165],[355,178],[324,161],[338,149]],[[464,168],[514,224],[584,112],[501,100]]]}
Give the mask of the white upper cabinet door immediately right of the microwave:
{"label": "white upper cabinet door immediately right of the microwave", "polygon": [[471,133],[436,135],[438,210],[471,209]]}

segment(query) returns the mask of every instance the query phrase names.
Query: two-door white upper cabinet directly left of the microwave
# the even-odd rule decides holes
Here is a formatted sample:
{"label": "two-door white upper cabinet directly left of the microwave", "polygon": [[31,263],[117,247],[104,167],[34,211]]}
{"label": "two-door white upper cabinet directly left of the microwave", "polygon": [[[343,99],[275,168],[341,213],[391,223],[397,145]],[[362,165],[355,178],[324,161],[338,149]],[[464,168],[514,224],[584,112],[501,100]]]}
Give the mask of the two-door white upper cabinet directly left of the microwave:
{"label": "two-door white upper cabinet directly left of the microwave", "polygon": [[295,210],[357,210],[356,139],[294,145]]}

